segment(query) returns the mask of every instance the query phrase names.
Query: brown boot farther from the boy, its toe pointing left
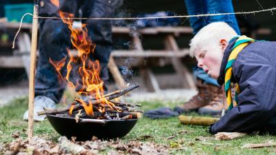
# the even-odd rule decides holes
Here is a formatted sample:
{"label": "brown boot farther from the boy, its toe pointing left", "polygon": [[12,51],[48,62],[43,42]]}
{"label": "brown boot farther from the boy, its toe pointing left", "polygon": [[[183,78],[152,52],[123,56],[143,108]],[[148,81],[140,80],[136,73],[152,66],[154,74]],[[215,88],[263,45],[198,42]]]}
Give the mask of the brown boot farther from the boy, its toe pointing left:
{"label": "brown boot farther from the boy, its toe pointing left", "polygon": [[198,93],[181,107],[175,107],[174,111],[179,112],[179,114],[183,112],[197,111],[199,107],[204,107],[210,103],[218,89],[219,87],[215,85],[199,81],[199,83],[197,83]]}

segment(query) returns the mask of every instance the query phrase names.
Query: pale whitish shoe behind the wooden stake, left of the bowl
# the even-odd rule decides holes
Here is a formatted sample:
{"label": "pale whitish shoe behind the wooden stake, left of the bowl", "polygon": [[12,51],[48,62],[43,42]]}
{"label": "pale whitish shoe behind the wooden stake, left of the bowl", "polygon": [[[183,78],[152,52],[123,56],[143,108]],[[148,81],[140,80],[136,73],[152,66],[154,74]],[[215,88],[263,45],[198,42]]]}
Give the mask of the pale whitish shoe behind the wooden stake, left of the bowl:
{"label": "pale whitish shoe behind the wooden stake, left of the bowl", "polygon": [[[56,104],[52,99],[46,96],[36,96],[34,98],[34,121],[46,120],[46,114],[39,116],[37,112],[41,112],[44,109],[55,109]],[[23,114],[23,120],[28,121],[28,110]]]}

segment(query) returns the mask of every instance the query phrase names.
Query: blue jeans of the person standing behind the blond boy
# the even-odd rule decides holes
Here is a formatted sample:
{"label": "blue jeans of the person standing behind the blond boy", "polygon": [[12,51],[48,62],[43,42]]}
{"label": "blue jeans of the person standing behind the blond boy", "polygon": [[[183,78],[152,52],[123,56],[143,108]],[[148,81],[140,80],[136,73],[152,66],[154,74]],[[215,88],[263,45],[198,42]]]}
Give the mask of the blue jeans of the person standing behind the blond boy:
{"label": "blue jeans of the person standing behind the blond boy", "polygon": [[[231,0],[185,0],[185,3],[189,15],[234,12]],[[205,25],[216,21],[224,21],[228,23],[237,34],[241,34],[235,14],[212,17],[190,17],[189,21],[193,28],[193,34],[197,34],[197,32],[199,32],[199,30]],[[195,67],[194,75],[197,79],[201,79],[205,83],[219,86],[217,80],[210,77],[201,68]]]}

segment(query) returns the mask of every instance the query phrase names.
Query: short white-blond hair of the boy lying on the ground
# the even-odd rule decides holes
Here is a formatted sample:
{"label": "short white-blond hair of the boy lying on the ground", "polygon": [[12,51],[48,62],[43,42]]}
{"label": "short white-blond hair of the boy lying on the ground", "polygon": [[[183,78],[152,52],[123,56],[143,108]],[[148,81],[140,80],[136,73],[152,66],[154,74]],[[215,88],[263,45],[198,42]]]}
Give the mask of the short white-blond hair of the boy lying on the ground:
{"label": "short white-blond hair of the boy lying on the ground", "polygon": [[219,45],[221,39],[230,41],[237,36],[237,32],[225,22],[213,22],[201,28],[199,32],[190,40],[190,56],[195,55],[195,51],[210,43],[217,43]]}

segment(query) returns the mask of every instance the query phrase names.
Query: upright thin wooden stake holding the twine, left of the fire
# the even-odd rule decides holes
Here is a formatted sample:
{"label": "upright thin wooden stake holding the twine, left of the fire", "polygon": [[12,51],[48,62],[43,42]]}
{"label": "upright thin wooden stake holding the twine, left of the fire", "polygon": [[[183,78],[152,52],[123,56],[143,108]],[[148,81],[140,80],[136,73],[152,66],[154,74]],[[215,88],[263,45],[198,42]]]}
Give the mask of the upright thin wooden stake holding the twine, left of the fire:
{"label": "upright thin wooden stake holding the twine, left of the fire", "polygon": [[32,18],[32,43],[31,43],[31,51],[30,51],[28,138],[32,138],[33,127],[34,127],[34,72],[35,72],[35,60],[37,58],[36,53],[37,53],[38,9],[39,9],[39,6],[35,4],[33,18]]}

